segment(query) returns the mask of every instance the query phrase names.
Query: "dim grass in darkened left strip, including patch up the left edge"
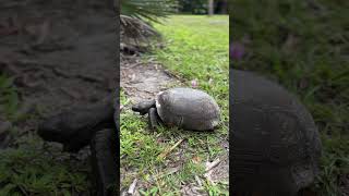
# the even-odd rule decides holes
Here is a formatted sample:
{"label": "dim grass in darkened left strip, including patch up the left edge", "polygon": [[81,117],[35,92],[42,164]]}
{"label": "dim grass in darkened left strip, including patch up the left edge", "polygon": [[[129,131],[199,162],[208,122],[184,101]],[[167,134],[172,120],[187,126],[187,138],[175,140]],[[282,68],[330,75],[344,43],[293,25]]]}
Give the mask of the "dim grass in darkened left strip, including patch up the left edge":
{"label": "dim grass in darkened left strip, including patch up the left edge", "polygon": [[[88,193],[89,166],[71,160],[59,148],[43,146],[35,133],[20,137],[16,123],[25,118],[17,113],[21,102],[13,79],[0,75],[0,113],[14,126],[9,136],[13,148],[0,149],[0,195],[76,195]],[[3,119],[2,119],[3,120]]]}

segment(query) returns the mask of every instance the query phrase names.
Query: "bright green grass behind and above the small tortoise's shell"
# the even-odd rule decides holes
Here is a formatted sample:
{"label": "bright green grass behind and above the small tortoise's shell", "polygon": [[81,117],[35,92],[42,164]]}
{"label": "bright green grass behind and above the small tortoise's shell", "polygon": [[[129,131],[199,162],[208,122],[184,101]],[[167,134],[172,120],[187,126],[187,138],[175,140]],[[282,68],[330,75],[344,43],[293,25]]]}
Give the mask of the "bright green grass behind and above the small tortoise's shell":
{"label": "bright green grass behind and above the small tortoise's shell", "polygon": [[229,17],[184,15],[165,24],[156,25],[167,45],[155,57],[188,86],[197,79],[222,109],[222,121],[229,122]]}

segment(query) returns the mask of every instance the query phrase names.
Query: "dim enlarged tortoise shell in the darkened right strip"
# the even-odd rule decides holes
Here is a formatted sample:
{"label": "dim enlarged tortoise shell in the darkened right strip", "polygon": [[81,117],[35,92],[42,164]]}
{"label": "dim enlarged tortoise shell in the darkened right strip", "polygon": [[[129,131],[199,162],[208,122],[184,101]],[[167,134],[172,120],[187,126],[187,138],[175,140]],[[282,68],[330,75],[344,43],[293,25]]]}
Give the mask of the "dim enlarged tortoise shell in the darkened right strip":
{"label": "dim enlarged tortoise shell in the darkened right strip", "polygon": [[230,73],[233,195],[300,195],[314,182],[322,154],[312,115],[278,84]]}

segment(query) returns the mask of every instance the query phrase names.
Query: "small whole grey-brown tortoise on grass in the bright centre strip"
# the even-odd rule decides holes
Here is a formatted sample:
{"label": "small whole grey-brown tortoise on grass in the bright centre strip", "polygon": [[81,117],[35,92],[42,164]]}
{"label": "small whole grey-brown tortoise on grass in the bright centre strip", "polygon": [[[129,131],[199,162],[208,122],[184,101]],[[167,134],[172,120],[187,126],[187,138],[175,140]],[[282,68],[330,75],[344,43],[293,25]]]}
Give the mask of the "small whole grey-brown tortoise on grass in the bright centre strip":
{"label": "small whole grey-brown tortoise on grass in the bright centre strip", "polygon": [[164,124],[189,131],[213,131],[219,124],[219,107],[205,91],[193,88],[170,88],[160,91],[153,100],[132,107],[144,115],[148,113],[149,125]]}

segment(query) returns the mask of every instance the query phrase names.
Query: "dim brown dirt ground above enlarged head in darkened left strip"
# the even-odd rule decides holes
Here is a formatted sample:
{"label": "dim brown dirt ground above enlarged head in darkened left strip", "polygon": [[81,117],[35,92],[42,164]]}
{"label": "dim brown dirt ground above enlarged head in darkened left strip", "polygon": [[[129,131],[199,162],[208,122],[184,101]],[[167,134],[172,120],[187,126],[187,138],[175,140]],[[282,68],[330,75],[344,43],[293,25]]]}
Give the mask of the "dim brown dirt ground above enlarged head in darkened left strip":
{"label": "dim brown dirt ground above enlarged head in darkened left strip", "polygon": [[[19,137],[36,135],[43,118],[115,91],[119,41],[110,5],[96,0],[1,1],[0,73],[14,77],[19,112],[38,117],[12,122]],[[1,136],[0,146],[15,147],[20,138],[8,137]],[[88,150],[83,154],[87,162]]]}

